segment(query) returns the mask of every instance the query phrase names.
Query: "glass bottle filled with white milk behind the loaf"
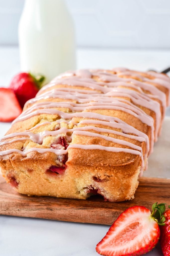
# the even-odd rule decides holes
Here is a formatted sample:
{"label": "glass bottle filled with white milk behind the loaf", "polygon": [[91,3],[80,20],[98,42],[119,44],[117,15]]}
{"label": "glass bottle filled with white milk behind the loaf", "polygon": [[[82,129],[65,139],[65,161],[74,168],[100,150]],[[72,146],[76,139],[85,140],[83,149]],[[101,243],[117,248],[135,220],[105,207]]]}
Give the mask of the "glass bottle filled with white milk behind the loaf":
{"label": "glass bottle filled with white milk behind the loaf", "polygon": [[73,20],[64,0],[26,0],[19,23],[22,71],[41,73],[49,82],[76,68]]}

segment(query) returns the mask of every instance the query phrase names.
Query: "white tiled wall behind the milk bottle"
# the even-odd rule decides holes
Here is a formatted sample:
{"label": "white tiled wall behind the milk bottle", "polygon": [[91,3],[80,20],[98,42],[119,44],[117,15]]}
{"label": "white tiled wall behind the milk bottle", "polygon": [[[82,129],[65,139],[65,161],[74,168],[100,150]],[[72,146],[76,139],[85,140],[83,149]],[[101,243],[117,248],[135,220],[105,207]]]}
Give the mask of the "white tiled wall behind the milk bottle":
{"label": "white tiled wall behind the milk bottle", "polygon": [[[47,0],[50,1],[50,0]],[[66,0],[77,45],[170,48],[170,0]],[[18,44],[24,0],[0,0],[0,45]]]}

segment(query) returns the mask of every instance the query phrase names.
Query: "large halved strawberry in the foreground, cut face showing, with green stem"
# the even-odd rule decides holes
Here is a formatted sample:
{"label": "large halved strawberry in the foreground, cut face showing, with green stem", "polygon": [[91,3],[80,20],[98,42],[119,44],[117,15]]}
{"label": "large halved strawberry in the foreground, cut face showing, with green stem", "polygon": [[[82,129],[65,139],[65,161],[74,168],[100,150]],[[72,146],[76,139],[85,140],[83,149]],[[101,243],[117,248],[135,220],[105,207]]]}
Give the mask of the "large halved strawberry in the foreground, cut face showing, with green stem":
{"label": "large halved strawberry in the foreground, cut face showing, with green stem", "polygon": [[162,205],[165,209],[165,204],[153,204],[152,214],[144,206],[125,210],[97,244],[96,251],[109,256],[138,256],[152,250],[160,237],[159,225],[164,225]]}

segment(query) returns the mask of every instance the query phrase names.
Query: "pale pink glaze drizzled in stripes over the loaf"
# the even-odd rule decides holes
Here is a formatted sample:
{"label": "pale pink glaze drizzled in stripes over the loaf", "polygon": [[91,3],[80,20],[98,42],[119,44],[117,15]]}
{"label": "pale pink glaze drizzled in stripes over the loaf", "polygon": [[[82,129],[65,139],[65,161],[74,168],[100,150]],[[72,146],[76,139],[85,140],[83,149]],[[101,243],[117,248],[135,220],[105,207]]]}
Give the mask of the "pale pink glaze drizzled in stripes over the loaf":
{"label": "pale pink glaze drizzled in stripes over the loaf", "polygon": [[[129,71],[124,68],[117,68],[113,71],[118,72],[119,74],[111,74],[107,73],[105,70],[78,70],[76,72],[70,71],[70,73],[64,73],[60,77],[57,77],[51,83],[49,83],[47,86],[43,87],[39,93],[37,94],[35,99],[32,99],[28,101],[26,104],[33,104],[29,109],[25,110],[13,123],[26,120],[28,118],[31,118],[32,116],[38,115],[38,114],[52,114],[52,115],[58,115],[60,116],[60,119],[56,122],[57,124],[60,124],[61,122],[69,123],[71,122],[71,119],[73,117],[79,117],[79,118],[88,118],[92,120],[82,120],[80,124],[103,124],[107,125],[113,128],[122,129],[123,133],[117,132],[110,129],[103,129],[95,126],[83,126],[78,127],[76,126],[73,129],[67,129],[65,127],[60,128],[59,130],[55,131],[43,131],[38,134],[31,133],[30,131],[41,127],[45,124],[51,124],[51,122],[44,122],[41,124],[36,125],[35,127],[20,133],[13,133],[6,135],[2,138],[8,139],[12,138],[14,136],[28,136],[28,137],[22,137],[22,138],[16,138],[11,141],[7,142],[1,142],[0,145],[9,144],[15,141],[19,140],[27,140],[30,139],[34,141],[37,144],[42,144],[43,138],[45,136],[58,136],[59,134],[64,134],[64,136],[71,141],[71,136],[68,136],[67,133],[72,133],[72,136],[74,135],[84,135],[84,136],[91,136],[91,137],[99,137],[104,140],[108,140],[117,144],[121,144],[130,148],[116,148],[116,147],[105,147],[101,145],[78,145],[78,144],[70,144],[68,146],[64,137],[60,136],[60,143],[56,143],[56,145],[61,145],[62,148],[56,148],[53,147],[53,144],[51,145],[51,148],[31,148],[28,151],[20,151],[17,149],[11,149],[0,152],[0,155],[6,155],[10,153],[20,153],[23,157],[26,157],[27,154],[37,151],[38,153],[55,153],[56,155],[64,155],[67,154],[69,148],[80,148],[83,150],[106,150],[110,152],[125,152],[130,154],[139,155],[142,159],[142,168],[144,166],[143,164],[143,154],[142,154],[142,148],[130,143],[126,142],[124,140],[116,139],[111,136],[105,136],[98,133],[89,132],[89,130],[93,130],[96,132],[106,132],[109,134],[117,134],[124,137],[129,137],[131,139],[135,139],[138,141],[146,141],[146,153],[145,158],[147,157],[147,154],[149,152],[152,152],[153,149],[153,141],[154,141],[154,125],[153,125],[153,119],[148,116],[144,111],[142,111],[140,108],[132,104],[124,98],[130,98],[132,102],[134,102],[136,105],[145,106],[146,108],[152,110],[156,114],[156,124],[155,124],[155,140],[157,139],[158,130],[159,130],[159,123],[161,121],[161,113],[160,113],[160,104],[156,101],[153,101],[152,98],[158,98],[161,100],[163,108],[165,109],[165,101],[166,97],[165,94],[154,87],[153,85],[147,83],[150,81],[153,81],[154,83],[161,84],[165,86],[166,88],[169,87],[169,78],[163,77],[163,75],[158,74],[155,75],[154,79],[150,80],[148,78],[144,78],[140,76],[138,73],[135,73],[135,76],[138,78],[141,78],[144,82],[139,82],[135,79],[129,79],[129,78],[122,78],[123,75],[132,75],[133,71]],[[98,76],[101,82],[96,82],[91,77]],[[106,82],[103,82],[106,81]],[[56,84],[63,84],[63,85],[69,85],[69,86],[79,86],[82,87],[81,89],[72,89],[72,88],[54,88]],[[120,87],[127,87],[126,88],[120,88]],[[137,91],[129,90],[129,88],[134,88]],[[139,88],[138,88],[139,87]],[[46,91],[47,89],[49,89]],[[84,90],[83,88],[87,88],[87,90]],[[151,94],[146,94],[143,92],[143,90],[149,91]],[[45,92],[44,92],[45,91]],[[66,94],[67,92],[67,94]],[[117,97],[121,97],[117,98]],[[47,99],[47,98],[62,98],[64,100],[74,100],[74,102],[70,101],[63,101],[63,102],[41,102],[36,103],[38,100],[41,99]],[[77,103],[78,102],[78,103]],[[65,113],[62,111],[59,111],[54,108],[64,108],[68,109],[71,112],[75,113]],[[126,124],[122,120],[106,115],[101,115],[93,112],[82,112],[86,110],[98,110],[98,109],[112,109],[112,110],[121,110],[123,112],[129,113],[139,120],[141,120],[142,123],[147,124],[151,127],[151,145],[149,146],[149,140],[148,136],[134,127]],[[81,111],[81,112],[78,112]],[[63,119],[68,119],[70,121],[66,121]],[[93,120],[98,119],[98,120]],[[100,121],[99,121],[100,120]],[[77,125],[77,124],[74,124]],[[133,133],[134,135],[128,135],[127,133]],[[54,144],[55,145],[55,144]],[[132,149],[131,149],[132,148]],[[60,167],[57,167],[60,168]],[[64,167],[62,167],[63,170]],[[53,172],[53,170],[52,170]],[[54,171],[55,172],[55,171]]]}

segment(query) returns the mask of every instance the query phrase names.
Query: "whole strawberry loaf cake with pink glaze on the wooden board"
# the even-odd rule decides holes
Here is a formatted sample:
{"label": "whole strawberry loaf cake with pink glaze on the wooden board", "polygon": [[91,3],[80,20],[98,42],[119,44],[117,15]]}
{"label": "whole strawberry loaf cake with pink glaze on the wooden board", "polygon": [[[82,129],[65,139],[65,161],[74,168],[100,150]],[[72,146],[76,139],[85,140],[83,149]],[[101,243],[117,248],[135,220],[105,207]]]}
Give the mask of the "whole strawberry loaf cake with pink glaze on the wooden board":
{"label": "whole strawberry loaf cake with pink glaze on the wooden board", "polygon": [[61,74],[0,142],[4,178],[26,195],[134,198],[169,103],[170,79],[125,68]]}

